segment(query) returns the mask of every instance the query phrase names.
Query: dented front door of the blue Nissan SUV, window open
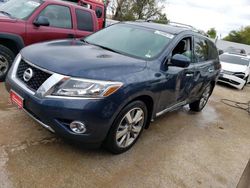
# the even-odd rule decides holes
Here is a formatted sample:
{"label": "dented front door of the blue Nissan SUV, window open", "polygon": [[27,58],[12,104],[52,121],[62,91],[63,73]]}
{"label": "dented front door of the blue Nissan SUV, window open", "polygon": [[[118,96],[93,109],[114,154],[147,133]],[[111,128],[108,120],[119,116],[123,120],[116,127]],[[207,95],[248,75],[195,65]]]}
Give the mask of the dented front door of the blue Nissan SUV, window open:
{"label": "dented front door of the blue Nissan SUV, window open", "polygon": [[[186,68],[172,66],[171,58],[175,54],[188,57],[191,61]],[[195,86],[197,76],[194,62],[193,37],[182,38],[172,50],[168,59],[168,68],[163,72],[165,80],[159,101],[159,111],[170,111],[187,103],[190,93]]]}

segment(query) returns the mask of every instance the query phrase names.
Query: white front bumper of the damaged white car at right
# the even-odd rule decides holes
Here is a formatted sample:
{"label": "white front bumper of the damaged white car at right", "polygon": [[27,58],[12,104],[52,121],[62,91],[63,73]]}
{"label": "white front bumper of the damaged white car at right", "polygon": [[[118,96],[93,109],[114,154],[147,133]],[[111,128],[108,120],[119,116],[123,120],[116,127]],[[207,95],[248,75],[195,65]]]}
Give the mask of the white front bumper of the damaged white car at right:
{"label": "white front bumper of the damaged white car at right", "polygon": [[233,87],[236,87],[237,89],[242,89],[246,84],[246,80],[244,79],[241,79],[234,75],[223,74],[223,73],[220,74],[218,81],[229,84]]}

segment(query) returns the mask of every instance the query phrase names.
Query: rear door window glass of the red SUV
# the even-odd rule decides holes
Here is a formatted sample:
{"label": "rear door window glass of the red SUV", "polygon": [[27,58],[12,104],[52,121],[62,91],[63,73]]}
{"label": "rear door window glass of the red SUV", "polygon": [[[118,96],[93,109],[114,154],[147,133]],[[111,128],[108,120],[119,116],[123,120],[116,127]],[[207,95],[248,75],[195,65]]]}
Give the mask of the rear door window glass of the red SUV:
{"label": "rear door window glass of the red SUV", "polygon": [[90,31],[94,30],[93,28],[93,19],[90,12],[85,10],[76,10],[76,19],[77,19],[77,29],[81,31]]}

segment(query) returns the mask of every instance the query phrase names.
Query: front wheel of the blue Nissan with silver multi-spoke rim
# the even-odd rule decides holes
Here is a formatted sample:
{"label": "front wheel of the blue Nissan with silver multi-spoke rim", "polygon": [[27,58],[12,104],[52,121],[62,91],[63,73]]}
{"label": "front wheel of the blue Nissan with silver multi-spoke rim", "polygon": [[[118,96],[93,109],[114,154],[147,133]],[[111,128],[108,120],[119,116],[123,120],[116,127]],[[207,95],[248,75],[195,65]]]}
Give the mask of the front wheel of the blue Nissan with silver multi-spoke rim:
{"label": "front wheel of the blue Nissan with silver multi-spoke rim", "polygon": [[104,143],[105,148],[114,154],[129,150],[140,137],[147,116],[148,110],[142,101],[128,104],[114,121]]}

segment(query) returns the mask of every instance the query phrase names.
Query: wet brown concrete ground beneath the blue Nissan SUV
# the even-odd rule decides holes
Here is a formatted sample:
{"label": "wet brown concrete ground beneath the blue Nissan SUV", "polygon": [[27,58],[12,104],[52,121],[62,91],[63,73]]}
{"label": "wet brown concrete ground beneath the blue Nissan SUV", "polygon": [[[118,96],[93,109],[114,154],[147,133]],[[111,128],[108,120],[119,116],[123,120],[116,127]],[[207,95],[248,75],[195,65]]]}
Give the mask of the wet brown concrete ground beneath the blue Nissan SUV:
{"label": "wet brown concrete ground beneath the blue Nissan SUV", "polygon": [[201,113],[156,119],[128,152],[65,142],[12,106],[0,83],[0,188],[236,187],[250,158],[250,116],[221,99],[250,101],[250,87],[218,85]]}

